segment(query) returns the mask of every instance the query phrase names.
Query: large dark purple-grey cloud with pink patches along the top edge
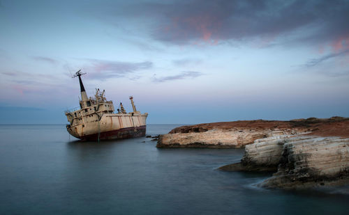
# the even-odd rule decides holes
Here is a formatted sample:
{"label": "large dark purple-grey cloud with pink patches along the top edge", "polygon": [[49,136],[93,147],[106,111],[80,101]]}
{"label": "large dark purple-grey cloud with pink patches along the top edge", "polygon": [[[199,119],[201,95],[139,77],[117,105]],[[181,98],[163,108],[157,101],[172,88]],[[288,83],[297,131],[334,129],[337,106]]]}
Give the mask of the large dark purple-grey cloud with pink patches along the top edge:
{"label": "large dark purple-grey cloud with pink patches along the top edge", "polygon": [[255,39],[271,43],[293,36],[298,42],[349,47],[346,0],[146,1],[113,8],[113,15],[126,17],[123,22],[127,17],[142,19],[153,39],[176,45]]}

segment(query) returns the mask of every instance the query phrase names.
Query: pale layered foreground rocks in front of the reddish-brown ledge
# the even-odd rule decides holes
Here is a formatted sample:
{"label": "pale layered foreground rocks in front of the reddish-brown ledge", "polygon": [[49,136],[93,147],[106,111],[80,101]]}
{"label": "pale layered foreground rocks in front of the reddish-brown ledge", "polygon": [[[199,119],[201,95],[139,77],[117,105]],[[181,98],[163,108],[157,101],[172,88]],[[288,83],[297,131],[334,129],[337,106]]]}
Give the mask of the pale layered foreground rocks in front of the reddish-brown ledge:
{"label": "pale layered foreground rocks in front of the reddish-brown ledge", "polygon": [[305,189],[349,184],[349,138],[340,136],[284,135],[255,140],[246,145],[230,171],[274,171],[259,186]]}

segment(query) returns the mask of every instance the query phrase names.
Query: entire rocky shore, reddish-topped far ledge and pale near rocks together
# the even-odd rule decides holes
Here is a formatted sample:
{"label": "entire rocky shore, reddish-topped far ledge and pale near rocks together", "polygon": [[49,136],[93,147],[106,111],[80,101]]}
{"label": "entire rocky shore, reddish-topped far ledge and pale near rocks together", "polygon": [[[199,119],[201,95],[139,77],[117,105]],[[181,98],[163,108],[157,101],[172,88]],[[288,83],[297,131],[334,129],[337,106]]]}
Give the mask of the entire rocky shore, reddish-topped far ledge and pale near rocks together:
{"label": "entire rocky shore, reddish-topped far ledge and pale near rocks together", "polygon": [[299,189],[349,184],[349,119],[217,122],[178,127],[158,148],[244,148],[228,171],[268,171],[259,186]]}

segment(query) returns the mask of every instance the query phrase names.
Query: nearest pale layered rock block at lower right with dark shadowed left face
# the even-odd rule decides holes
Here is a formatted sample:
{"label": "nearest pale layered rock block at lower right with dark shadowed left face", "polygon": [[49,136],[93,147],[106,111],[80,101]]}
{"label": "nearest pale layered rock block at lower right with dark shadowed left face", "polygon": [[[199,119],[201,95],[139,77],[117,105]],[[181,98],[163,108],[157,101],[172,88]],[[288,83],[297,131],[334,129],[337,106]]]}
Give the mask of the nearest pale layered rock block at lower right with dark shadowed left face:
{"label": "nearest pale layered rock block at lower right with dark shadowed left face", "polygon": [[307,136],[283,145],[277,173],[267,188],[304,188],[349,182],[349,138]]}

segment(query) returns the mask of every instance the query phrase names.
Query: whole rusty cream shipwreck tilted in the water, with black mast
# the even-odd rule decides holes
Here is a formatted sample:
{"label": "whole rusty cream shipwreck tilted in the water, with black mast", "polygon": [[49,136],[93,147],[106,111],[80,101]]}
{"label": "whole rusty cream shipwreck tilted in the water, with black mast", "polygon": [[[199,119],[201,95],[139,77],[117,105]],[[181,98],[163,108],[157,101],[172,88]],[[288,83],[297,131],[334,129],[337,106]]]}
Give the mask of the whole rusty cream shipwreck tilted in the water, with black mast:
{"label": "whole rusty cream shipwreck tilted in the water, with black mast", "polygon": [[94,98],[87,97],[81,79],[83,74],[79,70],[73,76],[79,78],[81,99],[80,107],[66,111],[69,134],[89,141],[145,136],[148,113],[137,111],[133,97],[129,97],[132,112],[127,113],[120,103],[118,113],[114,113],[114,104],[105,98],[105,90],[96,89]]}

